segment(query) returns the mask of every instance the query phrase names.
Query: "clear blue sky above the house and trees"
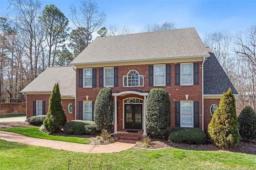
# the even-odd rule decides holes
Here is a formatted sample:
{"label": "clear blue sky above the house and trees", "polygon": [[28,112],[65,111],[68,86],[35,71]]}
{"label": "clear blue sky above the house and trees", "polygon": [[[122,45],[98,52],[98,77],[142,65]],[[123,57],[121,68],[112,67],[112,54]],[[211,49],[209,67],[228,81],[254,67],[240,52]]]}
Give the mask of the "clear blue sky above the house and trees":
{"label": "clear blue sky above the house and trees", "polygon": [[[67,17],[70,4],[80,5],[80,0],[41,2],[42,9],[54,4]],[[98,0],[97,3],[107,16],[104,26],[125,25],[133,33],[141,32],[147,24],[167,21],[175,22],[176,28],[195,27],[203,39],[206,32],[227,30],[236,34],[256,24],[256,0]],[[8,0],[0,0],[1,16],[10,12],[8,6]]]}

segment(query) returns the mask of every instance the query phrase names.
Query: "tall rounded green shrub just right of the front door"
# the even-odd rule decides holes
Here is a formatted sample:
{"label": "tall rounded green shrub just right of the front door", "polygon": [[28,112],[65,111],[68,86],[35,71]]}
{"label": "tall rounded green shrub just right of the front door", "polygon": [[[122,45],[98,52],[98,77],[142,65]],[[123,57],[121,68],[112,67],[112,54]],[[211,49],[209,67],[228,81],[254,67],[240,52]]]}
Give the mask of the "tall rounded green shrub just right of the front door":
{"label": "tall rounded green shrub just right of the front door", "polygon": [[146,100],[147,128],[153,136],[163,136],[170,120],[170,98],[162,88],[151,89]]}

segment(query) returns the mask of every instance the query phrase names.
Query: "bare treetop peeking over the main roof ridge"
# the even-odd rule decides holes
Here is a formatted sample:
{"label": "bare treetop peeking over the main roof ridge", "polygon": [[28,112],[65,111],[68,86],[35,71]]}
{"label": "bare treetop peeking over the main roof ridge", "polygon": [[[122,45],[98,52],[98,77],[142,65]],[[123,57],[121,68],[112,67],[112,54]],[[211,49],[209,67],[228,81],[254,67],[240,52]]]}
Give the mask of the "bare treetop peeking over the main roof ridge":
{"label": "bare treetop peeking over the main roof ridge", "polygon": [[162,25],[160,24],[153,24],[153,25],[146,25],[142,29],[142,32],[156,32],[156,31],[167,31],[167,30],[173,30],[175,29],[175,23],[174,22],[164,22]]}

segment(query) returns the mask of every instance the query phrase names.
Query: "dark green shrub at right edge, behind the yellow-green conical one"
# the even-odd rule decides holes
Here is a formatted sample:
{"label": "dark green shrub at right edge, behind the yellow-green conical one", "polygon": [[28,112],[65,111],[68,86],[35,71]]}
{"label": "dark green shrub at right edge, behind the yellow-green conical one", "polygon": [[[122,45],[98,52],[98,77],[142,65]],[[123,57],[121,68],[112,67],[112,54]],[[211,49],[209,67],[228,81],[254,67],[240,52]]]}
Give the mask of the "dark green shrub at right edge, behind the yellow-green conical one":
{"label": "dark green shrub at right edge, behind the yellow-green conical one", "polygon": [[256,113],[250,106],[246,106],[238,116],[239,133],[242,139],[250,141],[256,139]]}

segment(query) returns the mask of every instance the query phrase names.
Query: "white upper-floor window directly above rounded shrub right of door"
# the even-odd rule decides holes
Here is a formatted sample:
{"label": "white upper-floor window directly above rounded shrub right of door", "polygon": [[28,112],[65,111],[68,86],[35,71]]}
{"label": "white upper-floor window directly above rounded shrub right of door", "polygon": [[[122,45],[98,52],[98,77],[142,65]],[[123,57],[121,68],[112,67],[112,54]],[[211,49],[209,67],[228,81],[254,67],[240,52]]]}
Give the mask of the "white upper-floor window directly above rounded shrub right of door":
{"label": "white upper-floor window directly above rounded shrub right of door", "polygon": [[154,65],[154,86],[165,86],[165,65]]}

